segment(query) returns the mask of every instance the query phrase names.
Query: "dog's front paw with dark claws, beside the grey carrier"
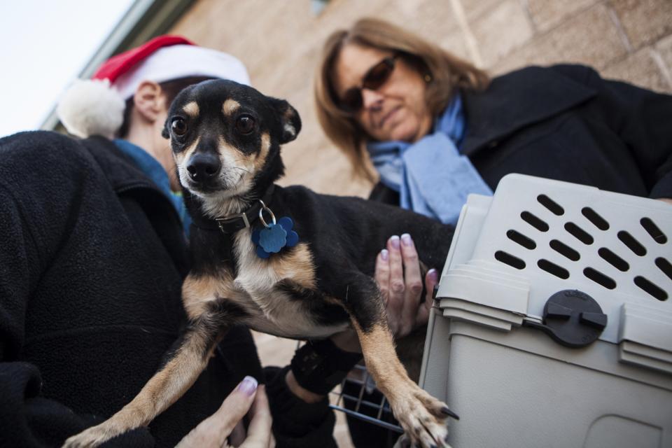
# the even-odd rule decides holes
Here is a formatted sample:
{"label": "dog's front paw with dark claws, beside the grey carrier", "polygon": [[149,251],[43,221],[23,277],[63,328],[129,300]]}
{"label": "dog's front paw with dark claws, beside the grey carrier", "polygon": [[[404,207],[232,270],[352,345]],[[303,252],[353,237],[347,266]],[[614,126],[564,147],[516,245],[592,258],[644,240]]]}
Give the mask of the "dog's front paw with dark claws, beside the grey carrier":
{"label": "dog's front paw with dark claws, beside the grey carrier", "polygon": [[458,416],[440,400],[412,384],[403,394],[397,394],[393,405],[396,419],[404,428],[411,446],[425,448],[449,447],[448,418]]}

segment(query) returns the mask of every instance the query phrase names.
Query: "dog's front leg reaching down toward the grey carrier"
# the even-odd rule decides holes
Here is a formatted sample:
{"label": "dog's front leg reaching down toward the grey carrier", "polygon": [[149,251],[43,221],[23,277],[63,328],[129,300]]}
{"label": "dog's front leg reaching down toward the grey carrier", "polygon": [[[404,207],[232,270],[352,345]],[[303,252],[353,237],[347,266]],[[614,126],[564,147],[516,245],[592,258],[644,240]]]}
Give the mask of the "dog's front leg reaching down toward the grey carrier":
{"label": "dog's front leg reaching down toward the grey carrier", "polygon": [[359,337],[367,370],[412,442],[448,447],[447,418],[454,414],[409,379],[395,352],[384,302],[373,279],[362,275],[353,279],[346,286],[344,306]]}

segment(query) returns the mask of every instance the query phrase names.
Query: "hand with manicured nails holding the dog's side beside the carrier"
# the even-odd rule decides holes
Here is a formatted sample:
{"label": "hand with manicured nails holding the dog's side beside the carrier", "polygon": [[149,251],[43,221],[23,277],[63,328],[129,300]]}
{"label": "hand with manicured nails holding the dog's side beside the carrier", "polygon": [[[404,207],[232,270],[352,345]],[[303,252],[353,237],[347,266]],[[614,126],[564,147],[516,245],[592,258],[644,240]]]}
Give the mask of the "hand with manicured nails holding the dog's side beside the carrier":
{"label": "hand with manicured nails holding the dog's side beside the carrier", "polygon": [[405,233],[387,240],[387,247],[376,258],[375,279],[385,300],[387,320],[395,337],[404,337],[427,323],[432,294],[437,284],[436,269],[424,278],[427,294],[421,303],[423,279],[415,244]]}

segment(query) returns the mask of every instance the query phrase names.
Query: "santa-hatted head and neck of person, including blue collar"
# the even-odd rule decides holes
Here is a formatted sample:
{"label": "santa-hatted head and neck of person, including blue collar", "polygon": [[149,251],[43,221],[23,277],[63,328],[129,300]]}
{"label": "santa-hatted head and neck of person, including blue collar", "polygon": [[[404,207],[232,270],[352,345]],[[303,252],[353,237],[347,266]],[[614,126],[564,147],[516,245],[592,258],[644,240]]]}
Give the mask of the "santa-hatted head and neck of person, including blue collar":
{"label": "santa-hatted head and neck of person, including blue collar", "polygon": [[232,55],[182,36],[158,36],[111,57],[90,80],[76,80],[59,100],[57,115],[76,137],[118,137],[118,148],[172,199],[188,232],[190,218],[161,130],[176,94],[211,78],[250,84],[245,66]]}

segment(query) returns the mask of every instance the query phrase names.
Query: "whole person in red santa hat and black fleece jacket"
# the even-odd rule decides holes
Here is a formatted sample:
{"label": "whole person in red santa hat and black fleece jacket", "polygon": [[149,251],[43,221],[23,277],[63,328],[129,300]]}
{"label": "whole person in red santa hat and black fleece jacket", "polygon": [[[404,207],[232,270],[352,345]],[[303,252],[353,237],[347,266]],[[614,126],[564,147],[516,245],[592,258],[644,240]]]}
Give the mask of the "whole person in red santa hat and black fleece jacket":
{"label": "whole person in red santa hat and black fleece jacket", "polygon": [[[207,78],[249,83],[235,57],[160,36],[64,94],[57,112],[78,138],[0,139],[0,447],[60,445],[104,421],[179,336],[188,215],[160,134],[174,96]],[[274,425],[277,446],[335,447],[327,400],[299,400],[285,374],[268,385],[274,414],[290,416]],[[250,332],[234,328],[180,400],[106,446],[219,447],[231,436],[265,447],[262,375]],[[245,435],[237,422],[250,408]]]}

